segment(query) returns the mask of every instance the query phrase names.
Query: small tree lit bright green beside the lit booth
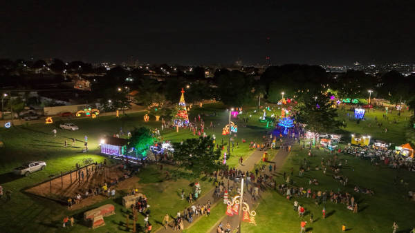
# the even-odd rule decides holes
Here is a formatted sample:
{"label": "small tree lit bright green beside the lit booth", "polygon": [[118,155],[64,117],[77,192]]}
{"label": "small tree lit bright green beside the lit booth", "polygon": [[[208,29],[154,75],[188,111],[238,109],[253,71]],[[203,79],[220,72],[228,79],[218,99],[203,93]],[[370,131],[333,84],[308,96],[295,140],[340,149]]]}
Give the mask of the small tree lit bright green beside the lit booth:
{"label": "small tree lit bright green beside the lit booth", "polygon": [[145,154],[150,145],[153,145],[154,138],[148,128],[140,127],[131,132],[131,138],[128,140],[128,148],[134,148],[136,153]]}

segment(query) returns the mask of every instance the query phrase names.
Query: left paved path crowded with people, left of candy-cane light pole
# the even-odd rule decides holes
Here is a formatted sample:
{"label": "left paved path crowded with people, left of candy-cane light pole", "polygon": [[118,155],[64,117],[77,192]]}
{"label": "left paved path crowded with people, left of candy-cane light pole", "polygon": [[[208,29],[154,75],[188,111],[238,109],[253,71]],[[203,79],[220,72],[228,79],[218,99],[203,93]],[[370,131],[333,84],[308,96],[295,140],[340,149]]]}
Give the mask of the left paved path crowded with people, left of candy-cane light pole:
{"label": "left paved path crowded with people, left of candy-cane light pole", "polygon": [[[252,154],[250,154],[250,156],[248,156],[248,159],[246,159],[245,161],[243,161],[242,165],[239,164],[237,166],[237,170],[241,170],[243,172],[252,171],[255,168],[255,163],[258,163],[261,160],[262,154],[263,154],[263,152],[261,152],[259,150],[255,150],[254,152],[252,152]],[[218,177],[218,179],[219,179],[219,181],[221,181],[219,177]],[[226,186],[228,184],[225,182],[225,180],[226,179],[224,178],[224,181],[223,182],[225,183],[225,186]],[[230,181],[230,185],[233,185],[233,181]],[[197,204],[200,203],[200,204],[203,204],[204,205],[205,203],[208,202],[208,200],[211,201],[212,207],[214,207],[214,205],[216,205],[218,203],[221,204],[223,202],[223,199],[221,197],[220,198],[216,198],[216,196],[214,196],[214,188],[212,188],[211,190],[208,191],[208,193],[206,193],[203,196],[201,196],[198,199],[198,201],[196,201],[195,204],[197,205]],[[182,213],[183,210],[180,210],[180,212]],[[176,216],[174,216],[174,217],[176,217]],[[197,219],[199,219],[199,218],[201,218],[201,216],[194,215],[193,222],[197,221]],[[160,219],[160,220],[163,220],[163,219]],[[183,225],[184,225],[185,229],[187,229],[187,227],[189,227],[190,224],[191,223],[189,223],[186,220],[183,221]],[[172,228],[173,226],[174,226],[174,223],[173,223],[173,221],[171,221],[169,223],[169,227],[167,227],[167,229],[165,229],[164,227],[160,227],[160,229],[158,229],[156,232],[163,232],[163,233],[174,232],[173,231],[173,228]]]}

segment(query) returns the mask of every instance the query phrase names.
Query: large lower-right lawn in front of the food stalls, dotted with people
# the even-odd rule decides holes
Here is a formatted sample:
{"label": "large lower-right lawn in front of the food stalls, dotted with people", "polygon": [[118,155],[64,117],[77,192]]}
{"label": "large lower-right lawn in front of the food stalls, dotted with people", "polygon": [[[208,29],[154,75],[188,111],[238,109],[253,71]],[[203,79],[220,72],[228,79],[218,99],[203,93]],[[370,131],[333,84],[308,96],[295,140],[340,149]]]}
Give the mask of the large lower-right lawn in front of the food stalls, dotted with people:
{"label": "large lower-right lawn in front of the food stalls, dotted with people", "polygon": [[[408,190],[415,189],[414,172],[407,170],[391,170],[385,166],[375,167],[370,161],[356,159],[349,155],[339,154],[339,159],[344,165],[345,160],[348,165],[342,169],[342,174],[349,177],[349,183],[346,187],[340,185],[340,182],[332,178],[329,169],[326,175],[322,170],[315,170],[315,166],[320,165],[321,159],[328,159],[333,155],[325,153],[324,150],[314,150],[315,156],[306,156],[307,150],[299,150],[296,146],[288,157],[281,172],[290,174],[291,168],[294,168],[294,184],[298,187],[312,190],[344,190],[349,192],[358,201],[359,212],[353,214],[347,210],[347,206],[341,203],[335,204],[328,201],[326,203],[326,214],[328,217],[322,219],[322,207],[316,206],[313,199],[299,198],[300,205],[306,208],[304,219],[308,221],[310,212],[314,214],[315,223],[308,221],[308,230],[313,232],[340,232],[341,225],[346,224],[347,228],[353,232],[387,232],[391,225],[396,221],[403,232],[409,232],[414,227],[415,202],[406,198]],[[306,171],[304,177],[298,176],[299,165],[304,163],[304,158],[311,170]],[[407,188],[403,185],[394,185],[394,176],[400,176],[405,182],[409,182]],[[308,179],[316,178],[320,185],[308,185]],[[282,176],[277,177],[277,183],[283,183]],[[355,185],[361,188],[370,188],[374,190],[375,195],[360,194],[353,191]],[[297,212],[293,211],[293,199],[287,201],[285,196],[280,195],[274,190],[264,194],[264,198],[257,207],[256,222],[257,226],[248,223],[243,224],[243,229],[248,232],[265,232],[270,227],[277,232],[295,232],[299,231],[300,219]],[[312,229],[311,229],[312,228]]]}

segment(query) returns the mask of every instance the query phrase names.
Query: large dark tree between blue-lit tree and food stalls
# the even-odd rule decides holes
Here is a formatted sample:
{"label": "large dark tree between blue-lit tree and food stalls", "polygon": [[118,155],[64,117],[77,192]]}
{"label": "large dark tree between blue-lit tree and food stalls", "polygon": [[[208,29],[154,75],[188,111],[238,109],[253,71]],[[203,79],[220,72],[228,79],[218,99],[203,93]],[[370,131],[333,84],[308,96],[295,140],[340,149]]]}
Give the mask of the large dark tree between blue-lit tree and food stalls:
{"label": "large dark tree between blue-lit tree and food stalls", "polygon": [[336,109],[331,108],[330,97],[320,92],[317,92],[314,98],[297,105],[295,115],[295,119],[306,124],[306,130],[311,132],[334,132],[344,127],[344,123],[338,121],[337,117]]}

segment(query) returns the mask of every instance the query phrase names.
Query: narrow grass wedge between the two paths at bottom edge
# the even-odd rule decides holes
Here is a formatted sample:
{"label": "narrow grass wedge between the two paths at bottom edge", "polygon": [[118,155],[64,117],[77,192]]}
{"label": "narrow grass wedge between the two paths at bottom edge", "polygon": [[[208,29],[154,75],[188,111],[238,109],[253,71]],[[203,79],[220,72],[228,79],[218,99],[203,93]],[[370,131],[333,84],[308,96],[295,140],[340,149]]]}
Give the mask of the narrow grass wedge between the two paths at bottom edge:
{"label": "narrow grass wedge between the two paths at bottom edge", "polygon": [[[205,233],[209,232],[212,227],[216,227],[219,223],[219,219],[223,218],[225,214],[226,205],[222,202],[217,203],[211,210],[210,216],[203,216],[201,219],[198,219],[189,228],[183,231],[183,233]],[[217,223],[217,224],[216,224]],[[223,223],[226,225],[226,223]]]}

